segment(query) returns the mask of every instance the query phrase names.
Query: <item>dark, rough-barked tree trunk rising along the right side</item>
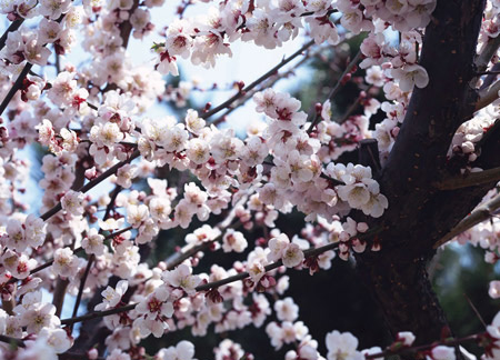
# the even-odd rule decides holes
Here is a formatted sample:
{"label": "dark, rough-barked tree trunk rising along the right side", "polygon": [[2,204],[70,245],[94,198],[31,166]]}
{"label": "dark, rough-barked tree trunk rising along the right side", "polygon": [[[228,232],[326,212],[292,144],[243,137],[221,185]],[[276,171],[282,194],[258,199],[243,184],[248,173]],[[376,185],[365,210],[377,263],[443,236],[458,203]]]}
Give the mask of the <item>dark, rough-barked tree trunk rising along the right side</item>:
{"label": "dark, rough-barked tree trunk rising along the right side", "polygon": [[[372,221],[382,223],[378,236],[382,250],[357,259],[392,334],[412,331],[418,343],[438,340],[448,327],[426,272],[434,253],[432,244],[493,186],[438,191],[431,184],[450,171],[447,152],[453,133],[473,113],[477,91],[469,82],[476,76],[473,59],[483,8],[482,0],[438,1],[420,58],[429,86],[414,89],[378,177],[389,200],[383,217]],[[486,162],[491,166],[499,159]]]}

